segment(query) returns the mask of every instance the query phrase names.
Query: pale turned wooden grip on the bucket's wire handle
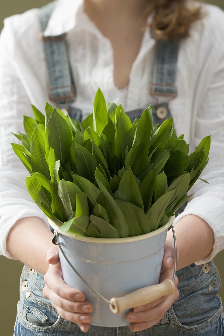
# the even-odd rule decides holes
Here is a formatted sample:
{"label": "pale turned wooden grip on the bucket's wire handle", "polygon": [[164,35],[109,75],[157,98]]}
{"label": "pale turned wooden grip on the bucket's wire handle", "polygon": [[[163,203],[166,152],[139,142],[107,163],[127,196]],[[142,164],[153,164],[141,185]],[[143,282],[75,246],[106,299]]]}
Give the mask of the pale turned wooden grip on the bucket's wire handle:
{"label": "pale turned wooden grip on the bucket's wire handle", "polygon": [[122,297],[111,298],[110,310],[114,314],[120,314],[125,309],[142,306],[161,296],[173,295],[175,291],[176,286],[173,281],[166,279],[161,284],[140,288]]}

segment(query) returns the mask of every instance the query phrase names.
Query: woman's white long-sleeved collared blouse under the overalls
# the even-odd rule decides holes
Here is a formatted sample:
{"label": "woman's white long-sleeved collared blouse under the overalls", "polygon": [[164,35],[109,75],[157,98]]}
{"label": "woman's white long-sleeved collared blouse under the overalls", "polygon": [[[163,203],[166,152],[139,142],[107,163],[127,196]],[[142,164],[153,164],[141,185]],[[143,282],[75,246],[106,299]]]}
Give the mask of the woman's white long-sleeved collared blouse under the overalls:
{"label": "woman's white long-sleeved collared blouse under the overalls", "polygon": [[[181,41],[178,96],[170,102],[177,133],[185,134],[191,151],[204,136],[211,134],[212,139],[210,161],[201,176],[210,184],[196,182],[190,191],[193,198],[175,220],[194,214],[212,227],[213,251],[197,264],[210,261],[224,248],[224,12],[212,5],[203,8],[207,16]],[[5,19],[0,37],[0,254],[8,258],[12,256],[6,250],[6,237],[18,219],[37,216],[48,225],[26,189],[28,173],[10,145],[18,141],[11,132],[23,132],[23,115],[32,117],[30,103],[43,111],[45,100],[49,101],[43,42],[37,37],[38,15],[39,9],[32,9]],[[83,11],[82,0],[57,1],[44,34],[64,32],[77,87],[76,107],[92,112],[98,87],[107,102],[122,103],[126,110],[155,102],[149,95],[155,41],[148,29],[129,84],[121,90],[114,84],[111,43]]]}

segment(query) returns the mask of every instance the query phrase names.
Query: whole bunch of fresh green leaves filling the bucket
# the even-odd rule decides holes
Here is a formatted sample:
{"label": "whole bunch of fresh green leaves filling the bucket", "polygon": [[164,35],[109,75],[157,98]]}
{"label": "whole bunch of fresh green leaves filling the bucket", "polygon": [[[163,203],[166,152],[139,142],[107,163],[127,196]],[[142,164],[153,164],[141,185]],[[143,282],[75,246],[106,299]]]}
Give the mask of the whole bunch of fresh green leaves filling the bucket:
{"label": "whole bunch of fresh green leaves filling the bucket", "polygon": [[28,191],[63,232],[137,236],[164,225],[208,163],[210,136],[191,154],[173,119],[153,126],[147,108],[133,123],[100,89],[93,113],[79,123],[46,103],[24,116],[16,155],[30,173]]}

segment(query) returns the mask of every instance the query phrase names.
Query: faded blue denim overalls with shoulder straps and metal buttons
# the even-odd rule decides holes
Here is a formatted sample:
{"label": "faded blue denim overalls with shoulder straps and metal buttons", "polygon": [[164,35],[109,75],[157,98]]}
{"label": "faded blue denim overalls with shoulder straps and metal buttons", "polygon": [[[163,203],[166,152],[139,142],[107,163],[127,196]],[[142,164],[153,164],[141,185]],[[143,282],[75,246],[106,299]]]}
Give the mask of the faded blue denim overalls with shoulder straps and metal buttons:
{"label": "faded blue denim overalls with shoulder straps and metal buttons", "polygon": [[[54,3],[41,9],[41,25],[45,30]],[[43,38],[49,72],[49,96],[72,118],[80,121],[88,114],[75,107],[75,81],[71,73],[66,34]],[[171,117],[168,102],[177,94],[175,86],[176,62],[179,41],[157,43],[150,88],[157,99],[153,106],[153,122],[162,123]],[[161,97],[164,99],[160,101]],[[133,121],[142,110],[128,111]],[[183,211],[183,208],[179,212]],[[179,298],[166,312],[162,320],[150,329],[131,332],[127,327],[105,328],[90,326],[86,336],[224,336],[224,316],[218,291],[221,280],[213,261],[203,265],[191,264],[177,271]],[[43,296],[43,275],[24,265],[20,278],[20,300],[14,336],[81,336],[78,325],[62,319]]]}

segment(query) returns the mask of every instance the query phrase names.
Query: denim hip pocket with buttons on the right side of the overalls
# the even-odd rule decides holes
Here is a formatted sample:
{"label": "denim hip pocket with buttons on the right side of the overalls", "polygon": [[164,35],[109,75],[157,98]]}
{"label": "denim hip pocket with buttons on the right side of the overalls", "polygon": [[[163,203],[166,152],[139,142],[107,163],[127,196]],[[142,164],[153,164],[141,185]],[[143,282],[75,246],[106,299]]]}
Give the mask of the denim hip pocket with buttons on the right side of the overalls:
{"label": "denim hip pocket with buttons on the right side of the overalls", "polygon": [[181,331],[196,332],[211,327],[223,312],[218,295],[221,287],[218,270],[212,262],[206,265],[209,265],[209,271],[201,271],[204,266],[201,265],[179,283],[180,297],[173,303],[170,317]]}

